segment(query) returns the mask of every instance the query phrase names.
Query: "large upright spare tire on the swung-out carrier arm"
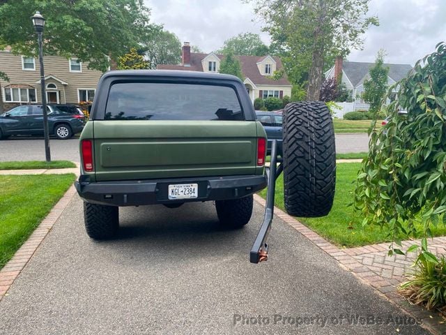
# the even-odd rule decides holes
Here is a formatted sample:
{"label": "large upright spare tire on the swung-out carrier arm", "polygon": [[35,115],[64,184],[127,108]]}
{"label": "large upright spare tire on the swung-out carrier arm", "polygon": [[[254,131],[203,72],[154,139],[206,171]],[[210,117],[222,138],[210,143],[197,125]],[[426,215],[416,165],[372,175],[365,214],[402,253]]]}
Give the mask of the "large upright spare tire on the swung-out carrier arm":
{"label": "large upright spare tire on the swung-out carrier arm", "polygon": [[330,112],[318,101],[289,103],[283,126],[285,209],[292,216],[325,216],[332,208],[336,180]]}

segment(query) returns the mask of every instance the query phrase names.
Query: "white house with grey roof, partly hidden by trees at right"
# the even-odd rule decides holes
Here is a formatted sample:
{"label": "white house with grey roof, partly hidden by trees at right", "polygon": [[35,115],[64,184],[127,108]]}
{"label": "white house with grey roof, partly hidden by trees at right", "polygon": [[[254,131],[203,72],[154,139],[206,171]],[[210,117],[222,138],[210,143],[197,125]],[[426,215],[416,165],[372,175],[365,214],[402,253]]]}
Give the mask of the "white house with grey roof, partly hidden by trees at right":
{"label": "white house with grey roof, partly hidden by trees at right", "polygon": [[[353,110],[369,110],[369,104],[364,102],[364,80],[369,79],[369,70],[375,66],[374,63],[363,63],[358,61],[343,61],[338,57],[334,66],[325,72],[326,78],[342,75],[341,81],[346,85],[348,91],[352,92]],[[391,86],[408,75],[412,70],[409,64],[384,64],[389,68],[387,85]]]}

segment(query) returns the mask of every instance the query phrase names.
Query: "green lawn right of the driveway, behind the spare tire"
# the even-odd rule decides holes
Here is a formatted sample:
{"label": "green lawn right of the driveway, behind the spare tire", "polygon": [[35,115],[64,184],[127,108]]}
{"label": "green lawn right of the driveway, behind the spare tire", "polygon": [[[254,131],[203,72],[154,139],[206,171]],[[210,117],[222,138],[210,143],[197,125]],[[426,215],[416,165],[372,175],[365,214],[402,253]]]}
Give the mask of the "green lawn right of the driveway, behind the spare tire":
{"label": "green lawn right of the driveway, behind the spare tire", "polygon": [[[350,248],[390,241],[387,237],[387,230],[378,226],[362,228],[362,218],[353,213],[353,207],[347,207],[353,201],[355,185],[352,182],[355,181],[360,166],[360,163],[337,164],[336,193],[333,208],[328,216],[323,218],[298,218],[298,221],[338,246]],[[261,191],[260,195],[265,198],[266,190]],[[284,209],[282,175],[277,179],[275,204],[277,207]],[[445,234],[445,227],[433,228],[434,236]]]}

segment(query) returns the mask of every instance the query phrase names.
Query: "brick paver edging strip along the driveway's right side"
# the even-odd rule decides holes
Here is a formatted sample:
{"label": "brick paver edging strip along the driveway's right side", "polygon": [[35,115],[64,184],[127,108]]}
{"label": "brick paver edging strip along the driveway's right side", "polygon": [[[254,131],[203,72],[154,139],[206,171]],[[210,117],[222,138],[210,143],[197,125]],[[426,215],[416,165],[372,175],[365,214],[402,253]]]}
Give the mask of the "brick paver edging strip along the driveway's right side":
{"label": "brick paver edging strip along the driveway's right side", "polygon": [[[266,200],[261,198],[260,195],[254,194],[254,200],[261,204],[261,206],[266,206]],[[307,237],[307,239],[312,241],[322,251],[325,251],[325,253],[328,253],[328,255],[337,260],[341,268],[350,271],[353,276],[360,280],[360,282],[374,288],[378,295],[385,297],[385,299],[399,307],[403,312],[415,318],[415,320],[420,320],[420,322],[422,322],[422,327],[428,329],[429,332],[433,334],[446,334],[446,323],[443,318],[438,316],[435,312],[426,311],[426,309],[421,306],[410,304],[408,300],[397,293],[397,285],[399,285],[400,281],[394,278],[388,279],[378,276],[376,272],[371,271],[369,267],[358,262],[358,260],[353,257],[355,252],[351,251],[360,248],[338,248],[313,230],[309,229],[306,225],[300,223],[293,218],[293,216],[286,214],[282,209],[274,207],[274,212],[276,216],[300,232],[300,234]],[[369,252],[387,251],[385,244],[374,244],[372,246],[361,248],[367,248],[369,249]]]}

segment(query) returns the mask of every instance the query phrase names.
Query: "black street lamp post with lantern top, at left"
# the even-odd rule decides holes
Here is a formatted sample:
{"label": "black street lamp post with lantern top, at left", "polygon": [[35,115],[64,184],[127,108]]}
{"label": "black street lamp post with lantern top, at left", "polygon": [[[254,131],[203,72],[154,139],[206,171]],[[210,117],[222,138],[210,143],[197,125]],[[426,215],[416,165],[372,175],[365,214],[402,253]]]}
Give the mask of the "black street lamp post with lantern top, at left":
{"label": "black street lamp post with lantern top, at left", "polygon": [[47,95],[45,91],[45,70],[43,68],[43,46],[42,34],[45,27],[45,19],[39,12],[36,12],[33,17],[34,29],[36,30],[39,44],[39,63],[40,63],[40,92],[42,93],[42,109],[43,109],[43,133],[45,135],[45,159],[47,162],[51,161],[51,154],[49,152],[49,132],[48,132],[48,114],[47,114]]}

